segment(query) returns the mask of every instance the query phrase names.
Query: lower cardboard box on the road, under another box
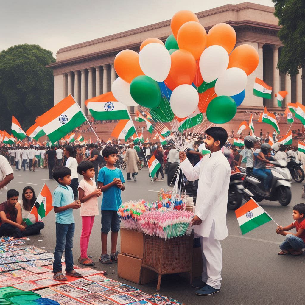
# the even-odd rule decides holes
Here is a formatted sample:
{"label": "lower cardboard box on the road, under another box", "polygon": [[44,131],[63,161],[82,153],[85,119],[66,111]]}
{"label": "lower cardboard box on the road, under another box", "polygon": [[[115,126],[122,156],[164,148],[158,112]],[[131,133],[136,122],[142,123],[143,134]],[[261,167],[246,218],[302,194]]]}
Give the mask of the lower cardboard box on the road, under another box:
{"label": "lower cardboard box on the road, under another box", "polygon": [[155,281],[158,278],[158,274],[146,268],[143,268],[141,281],[141,264],[142,260],[138,258],[119,254],[117,262],[118,277],[136,284],[147,284]]}

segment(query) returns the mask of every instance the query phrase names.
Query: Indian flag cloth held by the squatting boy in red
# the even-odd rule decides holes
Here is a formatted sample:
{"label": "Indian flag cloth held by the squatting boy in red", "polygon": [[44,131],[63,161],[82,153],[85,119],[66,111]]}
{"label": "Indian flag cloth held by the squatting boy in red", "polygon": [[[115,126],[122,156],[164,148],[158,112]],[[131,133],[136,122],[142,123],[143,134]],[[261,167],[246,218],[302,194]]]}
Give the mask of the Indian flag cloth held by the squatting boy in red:
{"label": "Indian flag cloth held by the squatting boy in red", "polygon": [[272,220],[253,199],[235,210],[235,214],[243,235]]}

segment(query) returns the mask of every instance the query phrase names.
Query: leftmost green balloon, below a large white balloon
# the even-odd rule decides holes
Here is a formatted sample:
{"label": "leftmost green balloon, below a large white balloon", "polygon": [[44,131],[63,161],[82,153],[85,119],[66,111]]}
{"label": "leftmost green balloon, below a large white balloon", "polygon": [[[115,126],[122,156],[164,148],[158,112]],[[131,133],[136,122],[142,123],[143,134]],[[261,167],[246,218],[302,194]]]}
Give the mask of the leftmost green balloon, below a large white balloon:
{"label": "leftmost green balloon, below a large white balloon", "polygon": [[161,100],[161,91],[158,83],[151,77],[139,75],[135,77],[129,88],[132,98],[140,106],[152,108],[157,107]]}

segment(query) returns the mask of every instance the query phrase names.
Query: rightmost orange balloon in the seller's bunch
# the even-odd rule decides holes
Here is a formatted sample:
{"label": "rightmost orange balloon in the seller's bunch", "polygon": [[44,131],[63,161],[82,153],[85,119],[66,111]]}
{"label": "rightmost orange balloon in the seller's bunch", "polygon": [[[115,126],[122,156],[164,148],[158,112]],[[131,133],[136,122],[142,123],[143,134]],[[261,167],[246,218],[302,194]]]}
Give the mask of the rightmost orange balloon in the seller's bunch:
{"label": "rightmost orange balloon in the seller's bunch", "polygon": [[250,75],[258,66],[259,56],[252,45],[239,45],[229,56],[228,68],[237,67]]}

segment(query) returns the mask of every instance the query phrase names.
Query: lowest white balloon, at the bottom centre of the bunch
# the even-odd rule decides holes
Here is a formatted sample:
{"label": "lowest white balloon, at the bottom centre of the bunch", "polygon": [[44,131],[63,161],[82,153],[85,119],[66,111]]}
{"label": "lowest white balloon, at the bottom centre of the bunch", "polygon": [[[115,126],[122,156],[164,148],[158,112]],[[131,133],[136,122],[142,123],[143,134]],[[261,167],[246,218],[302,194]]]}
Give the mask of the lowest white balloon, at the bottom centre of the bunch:
{"label": "lowest white balloon, at the bottom centre of the bunch", "polygon": [[192,114],[199,102],[197,90],[187,84],[174,89],[170,96],[170,108],[177,117],[188,117]]}

